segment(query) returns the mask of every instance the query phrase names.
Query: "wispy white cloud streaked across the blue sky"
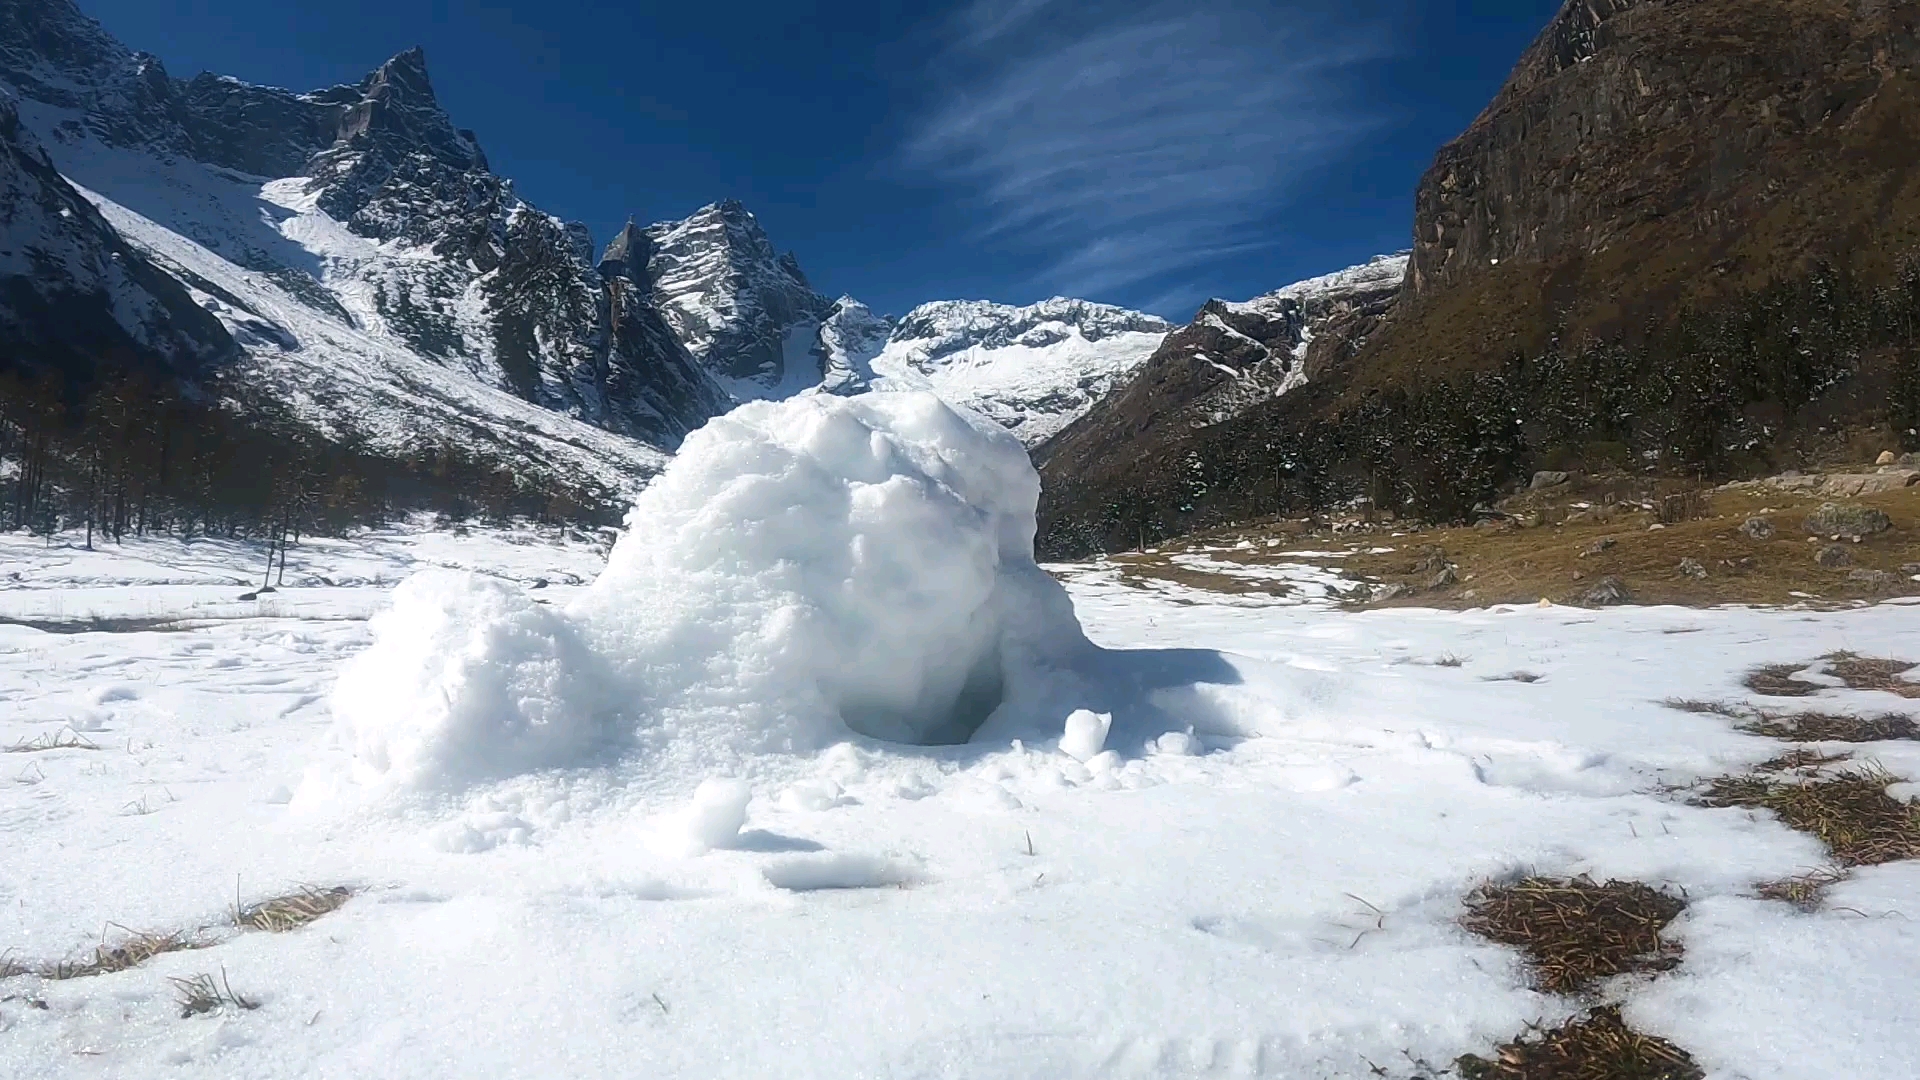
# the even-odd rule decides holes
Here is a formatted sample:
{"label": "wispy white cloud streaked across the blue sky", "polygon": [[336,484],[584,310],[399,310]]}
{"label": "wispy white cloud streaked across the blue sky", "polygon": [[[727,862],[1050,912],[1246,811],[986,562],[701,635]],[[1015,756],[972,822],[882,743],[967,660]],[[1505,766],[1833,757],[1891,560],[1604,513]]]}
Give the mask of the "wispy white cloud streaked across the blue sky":
{"label": "wispy white cloud streaked across the blue sky", "polygon": [[1392,38],[1325,2],[975,0],[904,161],[960,186],[1044,288],[1177,296],[1183,271],[1271,244],[1294,181],[1375,125],[1356,73]]}

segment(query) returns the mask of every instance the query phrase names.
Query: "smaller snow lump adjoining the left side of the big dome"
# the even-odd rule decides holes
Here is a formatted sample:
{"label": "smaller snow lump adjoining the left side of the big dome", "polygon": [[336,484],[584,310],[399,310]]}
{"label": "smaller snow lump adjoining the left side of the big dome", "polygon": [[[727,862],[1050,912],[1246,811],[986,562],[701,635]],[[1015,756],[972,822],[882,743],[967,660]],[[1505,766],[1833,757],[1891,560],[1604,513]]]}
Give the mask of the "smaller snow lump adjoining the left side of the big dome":
{"label": "smaller snow lump adjoining the left side of the big dome", "polygon": [[332,711],[361,780],[457,788],[588,765],[618,732],[578,628],[505,582],[426,571],[371,623]]}

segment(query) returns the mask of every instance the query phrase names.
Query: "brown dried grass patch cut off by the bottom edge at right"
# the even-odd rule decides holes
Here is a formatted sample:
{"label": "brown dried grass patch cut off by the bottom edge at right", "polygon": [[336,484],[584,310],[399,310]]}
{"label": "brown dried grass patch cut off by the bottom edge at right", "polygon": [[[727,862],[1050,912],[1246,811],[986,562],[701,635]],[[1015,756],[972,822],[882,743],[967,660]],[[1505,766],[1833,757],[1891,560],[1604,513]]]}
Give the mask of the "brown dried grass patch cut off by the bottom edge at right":
{"label": "brown dried grass patch cut off by the bottom edge at right", "polygon": [[1693,1057],[1678,1045],[1640,1034],[1620,1019],[1619,1005],[1594,1009],[1551,1030],[1534,1030],[1494,1051],[1494,1059],[1463,1055],[1453,1068],[1463,1080],[1703,1080]]}

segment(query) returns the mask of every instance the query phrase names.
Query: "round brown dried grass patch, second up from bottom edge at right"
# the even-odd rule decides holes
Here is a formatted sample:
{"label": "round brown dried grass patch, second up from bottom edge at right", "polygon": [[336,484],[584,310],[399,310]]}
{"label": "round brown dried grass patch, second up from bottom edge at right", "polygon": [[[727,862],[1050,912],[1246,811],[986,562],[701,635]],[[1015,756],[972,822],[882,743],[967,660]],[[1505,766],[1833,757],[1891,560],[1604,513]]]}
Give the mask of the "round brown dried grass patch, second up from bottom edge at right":
{"label": "round brown dried grass patch, second up from bottom edge at right", "polygon": [[1473,890],[1461,926],[1524,949],[1540,988],[1567,994],[1678,965],[1680,945],[1661,932],[1684,909],[1684,899],[1642,882],[1523,878]]}

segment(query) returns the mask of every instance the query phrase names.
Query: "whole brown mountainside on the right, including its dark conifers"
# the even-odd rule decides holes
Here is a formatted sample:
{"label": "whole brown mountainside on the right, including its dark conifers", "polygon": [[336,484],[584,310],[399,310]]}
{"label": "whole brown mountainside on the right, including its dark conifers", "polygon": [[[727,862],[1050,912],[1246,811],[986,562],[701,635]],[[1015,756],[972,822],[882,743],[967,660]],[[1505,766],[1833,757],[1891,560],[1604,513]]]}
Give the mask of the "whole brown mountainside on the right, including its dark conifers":
{"label": "whole brown mountainside on the right, including its dark conifers", "polygon": [[1421,179],[1363,342],[1221,423],[1116,394],[1043,455],[1043,548],[1357,496],[1459,517],[1534,467],[1761,471],[1920,427],[1916,69],[1920,4],[1571,0]]}

